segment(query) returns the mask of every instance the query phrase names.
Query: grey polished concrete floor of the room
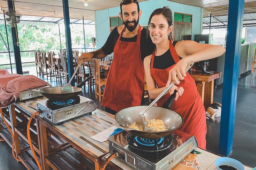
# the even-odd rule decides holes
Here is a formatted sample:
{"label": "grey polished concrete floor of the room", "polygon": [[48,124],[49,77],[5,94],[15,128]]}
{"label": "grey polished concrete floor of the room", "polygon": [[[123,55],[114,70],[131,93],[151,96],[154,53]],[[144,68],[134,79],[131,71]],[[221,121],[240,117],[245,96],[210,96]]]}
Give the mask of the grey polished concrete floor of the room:
{"label": "grey polished concrete floor of the room", "polygon": [[[30,71],[30,73],[32,73]],[[41,77],[40,77],[41,78]],[[54,78],[52,80],[44,78],[52,86],[60,86],[59,81],[56,82]],[[64,83],[62,82],[62,85]],[[95,99],[94,91],[89,92],[86,87],[85,91],[81,92],[81,96],[89,97],[94,100],[99,109],[104,109],[100,104],[98,98]],[[233,151],[231,152],[231,158],[237,159],[241,163],[256,167],[256,123],[255,123],[255,98],[256,98],[256,75],[246,75],[239,79],[238,91],[237,91],[237,105],[236,105],[236,117],[235,117],[235,129],[233,140]],[[222,87],[218,86],[214,89],[213,102],[221,103],[222,100]],[[220,120],[220,118],[218,118]],[[206,149],[218,153],[219,145],[219,130],[220,122],[211,122],[207,120],[207,135],[206,135]],[[0,142],[0,170],[25,170],[26,168],[21,163],[12,157],[11,148],[5,141]]]}

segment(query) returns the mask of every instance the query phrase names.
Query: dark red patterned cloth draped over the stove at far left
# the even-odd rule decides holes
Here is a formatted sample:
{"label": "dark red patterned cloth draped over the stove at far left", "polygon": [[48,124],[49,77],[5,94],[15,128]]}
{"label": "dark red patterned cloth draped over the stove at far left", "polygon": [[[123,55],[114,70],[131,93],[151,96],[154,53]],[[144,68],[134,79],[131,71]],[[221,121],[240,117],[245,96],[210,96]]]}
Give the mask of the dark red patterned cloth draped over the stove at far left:
{"label": "dark red patterned cloth draped over the stove at far left", "polygon": [[51,85],[34,75],[25,75],[9,81],[1,89],[0,108],[4,108],[15,103],[20,92],[43,86]]}

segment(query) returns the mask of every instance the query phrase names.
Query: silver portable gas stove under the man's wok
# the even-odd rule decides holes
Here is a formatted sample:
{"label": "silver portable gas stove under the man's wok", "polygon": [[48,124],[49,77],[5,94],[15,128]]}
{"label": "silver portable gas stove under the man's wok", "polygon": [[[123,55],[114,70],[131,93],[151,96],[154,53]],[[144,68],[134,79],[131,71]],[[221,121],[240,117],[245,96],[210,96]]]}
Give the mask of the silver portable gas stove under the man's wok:
{"label": "silver portable gas stove under the man's wok", "polygon": [[81,96],[65,101],[51,101],[48,99],[37,101],[37,111],[50,122],[57,124],[97,109],[93,100]]}

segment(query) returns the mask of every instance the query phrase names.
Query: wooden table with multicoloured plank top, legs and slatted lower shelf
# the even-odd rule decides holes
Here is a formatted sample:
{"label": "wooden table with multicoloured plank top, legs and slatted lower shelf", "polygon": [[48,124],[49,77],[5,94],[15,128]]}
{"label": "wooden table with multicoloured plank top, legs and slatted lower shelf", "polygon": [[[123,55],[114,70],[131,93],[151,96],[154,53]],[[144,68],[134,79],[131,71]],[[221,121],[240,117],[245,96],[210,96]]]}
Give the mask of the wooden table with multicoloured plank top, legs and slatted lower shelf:
{"label": "wooden table with multicoloured plank top, legs and slatted lower shelf", "polygon": [[[115,123],[113,115],[98,109],[92,112],[92,115],[85,114],[78,118],[65,121],[60,126],[48,122],[42,116],[38,116],[37,126],[40,129],[40,146],[44,169],[48,170],[49,166],[54,169],[57,164],[63,169],[65,169],[64,167],[67,165],[72,165],[74,169],[79,170],[84,166],[89,169],[98,170],[102,165],[101,158],[109,153],[108,141],[101,143],[90,137],[112,127],[113,123]],[[64,148],[60,148],[59,151],[49,152],[46,140],[47,129],[52,130],[53,133],[66,140],[70,144],[68,147],[71,148],[67,150],[67,146],[64,146]],[[73,152],[77,152],[85,158],[83,160],[82,158],[77,158],[83,166],[70,158],[69,154],[72,152],[71,149],[74,150]],[[66,162],[62,161],[58,155]],[[74,156],[74,158],[76,157]]]}

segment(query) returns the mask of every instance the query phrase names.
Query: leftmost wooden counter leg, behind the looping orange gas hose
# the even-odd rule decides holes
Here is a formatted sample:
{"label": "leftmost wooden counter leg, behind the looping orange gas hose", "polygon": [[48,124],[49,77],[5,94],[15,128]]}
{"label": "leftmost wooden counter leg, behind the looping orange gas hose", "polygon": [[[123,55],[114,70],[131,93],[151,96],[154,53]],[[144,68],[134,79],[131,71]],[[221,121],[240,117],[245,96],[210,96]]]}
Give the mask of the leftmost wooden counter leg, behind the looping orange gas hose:
{"label": "leftmost wooden counter leg, behind the looping orange gas hose", "polygon": [[15,143],[14,151],[16,152],[16,157],[18,158],[18,154],[20,154],[20,142],[19,142],[19,135],[14,130],[14,128],[17,126],[15,105],[9,106],[9,111],[10,111],[10,118],[11,118],[12,133],[14,135],[14,143]]}

